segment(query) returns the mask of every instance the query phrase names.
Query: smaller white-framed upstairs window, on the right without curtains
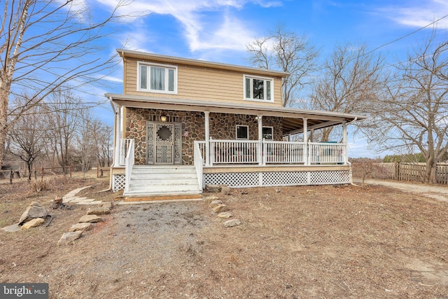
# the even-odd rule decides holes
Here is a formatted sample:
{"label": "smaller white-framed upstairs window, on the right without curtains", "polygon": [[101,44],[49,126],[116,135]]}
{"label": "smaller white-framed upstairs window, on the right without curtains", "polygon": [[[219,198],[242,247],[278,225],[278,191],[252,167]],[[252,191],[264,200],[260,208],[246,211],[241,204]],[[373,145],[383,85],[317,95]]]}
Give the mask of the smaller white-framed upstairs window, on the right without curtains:
{"label": "smaller white-framed upstairs window, on the right without curtains", "polygon": [[272,78],[244,76],[244,99],[274,102],[274,80]]}

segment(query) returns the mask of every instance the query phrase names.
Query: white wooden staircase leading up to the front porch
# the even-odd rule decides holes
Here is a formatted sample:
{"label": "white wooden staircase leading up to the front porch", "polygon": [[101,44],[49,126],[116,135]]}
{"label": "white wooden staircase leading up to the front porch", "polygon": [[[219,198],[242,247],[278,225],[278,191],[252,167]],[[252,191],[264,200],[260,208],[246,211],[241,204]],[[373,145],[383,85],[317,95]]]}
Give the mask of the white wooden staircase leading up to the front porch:
{"label": "white wooden staircase leading up to the front porch", "polygon": [[194,166],[134,165],[130,188],[123,193],[134,200],[188,200],[200,198],[201,189]]}

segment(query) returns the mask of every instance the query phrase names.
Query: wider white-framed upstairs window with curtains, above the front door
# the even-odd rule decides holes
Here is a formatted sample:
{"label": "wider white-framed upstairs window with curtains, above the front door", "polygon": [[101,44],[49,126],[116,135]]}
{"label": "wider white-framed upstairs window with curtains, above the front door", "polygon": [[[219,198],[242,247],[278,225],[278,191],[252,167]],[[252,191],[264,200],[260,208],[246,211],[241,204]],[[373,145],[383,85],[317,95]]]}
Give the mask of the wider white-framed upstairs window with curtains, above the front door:
{"label": "wider white-framed upstairs window with curtains, above the front door", "polygon": [[138,90],[177,93],[177,67],[138,63]]}

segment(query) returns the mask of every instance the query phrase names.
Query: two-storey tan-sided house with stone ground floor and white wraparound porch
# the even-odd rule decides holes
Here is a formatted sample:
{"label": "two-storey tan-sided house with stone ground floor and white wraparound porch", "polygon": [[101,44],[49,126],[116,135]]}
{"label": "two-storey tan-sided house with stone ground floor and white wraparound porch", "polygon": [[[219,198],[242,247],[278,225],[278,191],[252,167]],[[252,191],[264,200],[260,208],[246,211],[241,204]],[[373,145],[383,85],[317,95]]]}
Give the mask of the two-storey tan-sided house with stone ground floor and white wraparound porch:
{"label": "two-storey tan-sided house with stone ground floor and white wraparound porch", "polygon": [[[282,106],[282,71],[118,50],[111,187],[125,196],[349,183],[347,125],[365,118]],[[342,126],[340,143],[314,130]],[[293,141],[291,137],[301,136]]]}

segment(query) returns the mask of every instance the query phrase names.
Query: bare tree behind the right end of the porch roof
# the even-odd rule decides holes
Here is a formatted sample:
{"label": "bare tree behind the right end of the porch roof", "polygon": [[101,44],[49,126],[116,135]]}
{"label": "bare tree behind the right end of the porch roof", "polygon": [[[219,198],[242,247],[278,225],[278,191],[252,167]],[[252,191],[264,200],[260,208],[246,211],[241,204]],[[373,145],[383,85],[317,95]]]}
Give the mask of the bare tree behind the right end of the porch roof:
{"label": "bare tree behind the right end of the porch roof", "polygon": [[[384,88],[381,55],[367,53],[367,47],[349,43],[336,46],[326,60],[321,76],[311,88],[309,108],[341,113],[365,113]],[[332,127],[322,130],[328,141]]]}

